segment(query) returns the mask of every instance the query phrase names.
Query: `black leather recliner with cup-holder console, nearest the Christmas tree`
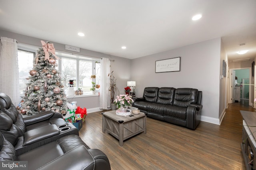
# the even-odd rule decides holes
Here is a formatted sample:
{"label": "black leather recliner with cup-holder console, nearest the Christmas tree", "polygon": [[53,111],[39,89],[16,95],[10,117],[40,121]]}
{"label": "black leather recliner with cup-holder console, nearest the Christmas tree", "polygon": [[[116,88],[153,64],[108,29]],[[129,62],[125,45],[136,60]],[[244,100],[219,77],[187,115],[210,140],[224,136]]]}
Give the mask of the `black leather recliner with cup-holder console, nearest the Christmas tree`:
{"label": "black leather recliner with cup-holder console, nearest the Christmas tree", "polygon": [[22,154],[66,135],[79,135],[72,123],[66,123],[60,113],[45,111],[22,117],[11,99],[0,93],[0,132]]}

